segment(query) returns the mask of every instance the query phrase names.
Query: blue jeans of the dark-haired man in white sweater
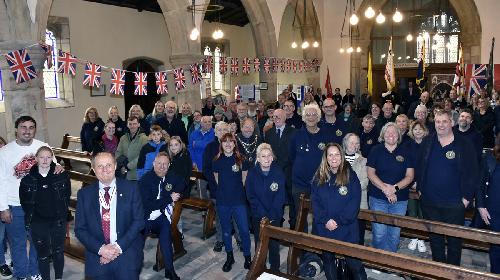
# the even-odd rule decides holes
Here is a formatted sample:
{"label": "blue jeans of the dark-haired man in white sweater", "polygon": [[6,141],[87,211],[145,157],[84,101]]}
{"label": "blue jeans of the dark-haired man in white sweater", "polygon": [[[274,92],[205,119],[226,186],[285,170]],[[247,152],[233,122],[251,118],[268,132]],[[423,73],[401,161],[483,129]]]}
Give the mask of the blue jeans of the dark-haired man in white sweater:
{"label": "blue jeans of the dark-haired man in white sweater", "polygon": [[[7,238],[10,244],[10,254],[14,263],[14,276],[25,278],[37,275],[38,259],[35,246],[31,240],[31,234],[26,231],[24,225],[24,211],[21,206],[10,206],[12,223],[5,224]],[[26,250],[26,242],[30,242],[29,255]]]}

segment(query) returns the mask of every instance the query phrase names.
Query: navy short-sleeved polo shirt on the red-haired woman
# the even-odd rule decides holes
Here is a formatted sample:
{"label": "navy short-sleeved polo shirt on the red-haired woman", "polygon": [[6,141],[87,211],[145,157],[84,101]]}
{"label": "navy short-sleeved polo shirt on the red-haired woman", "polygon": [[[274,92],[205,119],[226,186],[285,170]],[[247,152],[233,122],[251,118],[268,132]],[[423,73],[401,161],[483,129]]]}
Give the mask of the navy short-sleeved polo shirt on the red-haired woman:
{"label": "navy short-sleeved polo shirt on the red-haired woman", "polygon": [[245,205],[246,196],[243,188],[242,171],[246,171],[246,164],[236,164],[234,154],[230,157],[222,154],[214,161],[212,170],[219,175],[216,197],[217,204],[224,206]]}

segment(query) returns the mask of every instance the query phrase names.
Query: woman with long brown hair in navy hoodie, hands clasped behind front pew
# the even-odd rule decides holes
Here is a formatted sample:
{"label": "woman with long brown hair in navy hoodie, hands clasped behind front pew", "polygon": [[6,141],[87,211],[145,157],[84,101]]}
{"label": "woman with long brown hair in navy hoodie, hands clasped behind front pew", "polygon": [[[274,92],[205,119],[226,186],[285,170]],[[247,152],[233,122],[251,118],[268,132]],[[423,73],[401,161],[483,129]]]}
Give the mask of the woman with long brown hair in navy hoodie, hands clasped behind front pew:
{"label": "woman with long brown hair in navy hoodie, hands clasped behind front pew", "polygon": [[[357,244],[361,202],[358,177],[345,160],[339,144],[328,144],[321,158],[311,187],[314,232],[322,237]],[[322,258],[326,279],[337,279],[335,254],[325,251]],[[354,279],[366,279],[360,260],[347,256],[345,260]]]}

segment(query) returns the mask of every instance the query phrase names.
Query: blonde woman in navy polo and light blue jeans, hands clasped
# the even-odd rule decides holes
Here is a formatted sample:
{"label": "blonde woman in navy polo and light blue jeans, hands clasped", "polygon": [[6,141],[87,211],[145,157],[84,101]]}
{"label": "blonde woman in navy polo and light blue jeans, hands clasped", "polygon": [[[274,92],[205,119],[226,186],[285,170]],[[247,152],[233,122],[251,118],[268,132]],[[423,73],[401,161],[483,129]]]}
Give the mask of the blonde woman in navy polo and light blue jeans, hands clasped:
{"label": "blonde woman in navy polo and light blue jeans, hands clasped", "polygon": [[[393,122],[380,131],[381,143],[368,156],[368,203],[371,210],[405,215],[408,187],[413,181],[413,159],[406,145],[401,144],[401,132]],[[396,252],[399,245],[398,227],[372,223],[373,247]]]}

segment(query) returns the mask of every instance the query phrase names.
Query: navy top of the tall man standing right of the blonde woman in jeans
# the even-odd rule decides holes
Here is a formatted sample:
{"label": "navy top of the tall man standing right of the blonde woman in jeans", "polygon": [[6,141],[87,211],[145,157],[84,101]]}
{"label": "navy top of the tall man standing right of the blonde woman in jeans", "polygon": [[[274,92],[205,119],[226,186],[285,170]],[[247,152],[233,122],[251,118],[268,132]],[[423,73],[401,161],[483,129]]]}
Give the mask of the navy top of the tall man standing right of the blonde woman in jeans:
{"label": "navy top of the tall man standing right of the blonde woman in jeans", "polygon": [[423,200],[441,205],[462,203],[457,155],[455,141],[443,147],[437,137],[434,139],[421,188]]}

